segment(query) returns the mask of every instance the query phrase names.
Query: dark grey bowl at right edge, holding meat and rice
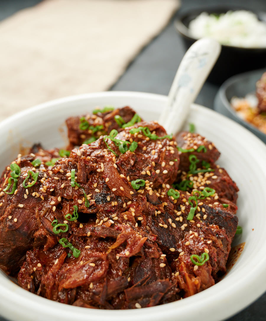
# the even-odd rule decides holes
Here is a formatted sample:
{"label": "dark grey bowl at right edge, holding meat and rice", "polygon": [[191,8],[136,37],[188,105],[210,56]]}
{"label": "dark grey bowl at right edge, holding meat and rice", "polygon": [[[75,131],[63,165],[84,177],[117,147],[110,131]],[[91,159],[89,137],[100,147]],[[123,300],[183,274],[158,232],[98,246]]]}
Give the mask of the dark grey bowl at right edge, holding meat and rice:
{"label": "dark grey bowl at right edge, holding meat and rice", "polygon": [[266,69],[253,70],[229,78],[221,85],[214,99],[214,109],[216,111],[245,126],[264,143],[266,143],[266,134],[239,117],[232,108],[230,101],[233,97],[244,98],[249,93],[255,94],[256,82],[265,71]]}

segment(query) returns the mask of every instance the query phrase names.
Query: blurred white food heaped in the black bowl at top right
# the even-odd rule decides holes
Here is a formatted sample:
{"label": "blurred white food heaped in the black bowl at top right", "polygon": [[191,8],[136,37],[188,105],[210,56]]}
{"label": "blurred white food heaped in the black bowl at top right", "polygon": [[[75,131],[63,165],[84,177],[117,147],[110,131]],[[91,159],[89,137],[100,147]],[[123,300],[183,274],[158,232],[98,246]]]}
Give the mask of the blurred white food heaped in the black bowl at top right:
{"label": "blurred white food heaped in the black bowl at top right", "polygon": [[266,47],[266,23],[246,10],[221,14],[203,12],[189,23],[188,29],[196,39],[211,37],[228,46]]}

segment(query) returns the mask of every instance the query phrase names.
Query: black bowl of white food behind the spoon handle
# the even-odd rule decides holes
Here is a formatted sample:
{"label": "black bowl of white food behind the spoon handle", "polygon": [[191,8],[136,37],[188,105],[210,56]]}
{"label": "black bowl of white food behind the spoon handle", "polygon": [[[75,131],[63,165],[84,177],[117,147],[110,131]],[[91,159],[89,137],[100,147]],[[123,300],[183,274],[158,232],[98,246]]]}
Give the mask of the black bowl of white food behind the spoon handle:
{"label": "black bowl of white food behind the spoon handle", "polygon": [[[179,14],[175,21],[175,27],[182,36],[185,47],[188,49],[197,39],[190,36],[188,25],[200,13],[226,13],[229,10],[248,10],[239,7],[208,7],[191,9],[186,13]],[[265,12],[254,12],[258,19],[266,22]],[[229,77],[243,73],[245,71],[263,68],[266,66],[266,47],[265,48],[242,48],[222,45],[221,54],[214,65],[208,81],[221,84]]]}

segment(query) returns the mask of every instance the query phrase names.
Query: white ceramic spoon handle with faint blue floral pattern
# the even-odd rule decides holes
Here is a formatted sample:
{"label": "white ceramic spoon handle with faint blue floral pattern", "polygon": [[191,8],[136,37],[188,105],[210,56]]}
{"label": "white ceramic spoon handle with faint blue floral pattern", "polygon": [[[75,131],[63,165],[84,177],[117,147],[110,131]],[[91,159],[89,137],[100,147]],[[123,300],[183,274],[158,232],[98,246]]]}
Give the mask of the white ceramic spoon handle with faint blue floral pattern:
{"label": "white ceramic spoon handle with faint blue floral pattern", "polygon": [[181,129],[190,105],[196,99],[220,51],[221,45],[210,38],[197,40],[187,50],[170,88],[166,108],[159,118],[159,124],[169,134],[175,134]]}

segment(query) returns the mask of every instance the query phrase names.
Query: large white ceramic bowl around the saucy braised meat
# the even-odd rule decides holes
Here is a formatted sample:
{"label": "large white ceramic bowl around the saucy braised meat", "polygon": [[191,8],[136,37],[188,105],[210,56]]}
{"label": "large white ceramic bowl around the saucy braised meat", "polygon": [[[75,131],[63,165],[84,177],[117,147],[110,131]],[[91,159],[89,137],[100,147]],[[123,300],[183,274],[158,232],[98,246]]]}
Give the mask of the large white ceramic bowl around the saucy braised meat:
{"label": "large white ceramic bowl around the saucy braised meat", "polygon": [[[144,119],[154,120],[158,119],[165,104],[166,96],[114,91],[67,97],[30,108],[0,124],[0,169],[16,157],[21,146],[41,142],[45,148],[64,147],[67,141],[64,120],[71,115],[90,112],[96,106],[129,105]],[[1,315],[14,321],[161,321],[177,318],[215,321],[237,313],[266,290],[266,147],[242,126],[199,105],[192,105],[188,122],[194,123],[197,132],[216,144],[221,152],[218,163],[228,170],[240,189],[237,215],[243,234],[239,243],[246,243],[226,276],[207,290],[165,305],[134,310],[98,310],[38,297],[0,273]]]}

